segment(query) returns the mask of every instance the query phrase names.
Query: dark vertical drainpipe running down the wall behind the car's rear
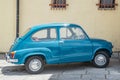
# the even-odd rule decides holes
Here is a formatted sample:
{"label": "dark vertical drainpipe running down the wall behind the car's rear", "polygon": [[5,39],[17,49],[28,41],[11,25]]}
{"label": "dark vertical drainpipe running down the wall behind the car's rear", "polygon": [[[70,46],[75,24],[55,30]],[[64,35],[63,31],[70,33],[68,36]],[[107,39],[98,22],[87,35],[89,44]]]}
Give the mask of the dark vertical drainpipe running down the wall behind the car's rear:
{"label": "dark vertical drainpipe running down the wall behind the car's rear", "polygon": [[19,0],[16,1],[16,38],[19,37]]}

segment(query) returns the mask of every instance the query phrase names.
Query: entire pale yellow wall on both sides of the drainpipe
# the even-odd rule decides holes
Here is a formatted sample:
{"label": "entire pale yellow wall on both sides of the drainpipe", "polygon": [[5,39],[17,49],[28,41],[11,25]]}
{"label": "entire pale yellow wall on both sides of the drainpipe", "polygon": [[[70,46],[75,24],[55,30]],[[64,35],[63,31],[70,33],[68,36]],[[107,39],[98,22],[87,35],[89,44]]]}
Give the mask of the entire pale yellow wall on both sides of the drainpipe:
{"label": "entire pale yellow wall on both sides of the drainpipe", "polygon": [[[3,12],[0,17],[6,17],[0,19],[0,36],[3,37],[0,40],[3,46],[0,45],[0,48],[8,50],[15,36],[15,0],[1,1],[0,9]],[[81,25],[90,37],[109,40],[113,43],[114,50],[120,50],[120,1],[116,0],[116,10],[98,10],[98,1],[67,0],[69,6],[66,10],[51,10],[50,0],[20,0],[20,33],[37,24],[76,23]],[[1,30],[3,28],[4,30]],[[1,34],[1,31],[4,34]],[[0,51],[3,51],[2,49]]]}

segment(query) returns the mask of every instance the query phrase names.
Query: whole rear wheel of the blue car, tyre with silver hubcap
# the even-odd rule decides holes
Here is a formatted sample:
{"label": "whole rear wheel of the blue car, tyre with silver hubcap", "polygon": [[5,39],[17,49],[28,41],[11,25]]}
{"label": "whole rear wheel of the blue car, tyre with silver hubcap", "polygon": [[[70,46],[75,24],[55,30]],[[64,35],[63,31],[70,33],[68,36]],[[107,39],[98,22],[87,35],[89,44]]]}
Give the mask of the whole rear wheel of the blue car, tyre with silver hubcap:
{"label": "whole rear wheel of the blue car, tyre with silver hubcap", "polygon": [[44,69],[44,60],[39,56],[32,56],[27,59],[25,68],[30,74],[38,74]]}

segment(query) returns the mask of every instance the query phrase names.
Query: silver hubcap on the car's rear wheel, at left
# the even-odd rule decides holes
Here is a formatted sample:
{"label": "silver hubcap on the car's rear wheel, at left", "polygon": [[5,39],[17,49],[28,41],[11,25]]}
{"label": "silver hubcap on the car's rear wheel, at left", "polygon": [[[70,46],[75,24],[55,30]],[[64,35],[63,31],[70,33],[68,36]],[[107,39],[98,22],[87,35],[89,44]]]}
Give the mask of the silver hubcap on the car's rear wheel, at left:
{"label": "silver hubcap on the car's rear wheel, at left", "polygon": [[42,67],[42,63],[39,59],[33,59],[30,61],[29,68],[31,71],[38,71]]}

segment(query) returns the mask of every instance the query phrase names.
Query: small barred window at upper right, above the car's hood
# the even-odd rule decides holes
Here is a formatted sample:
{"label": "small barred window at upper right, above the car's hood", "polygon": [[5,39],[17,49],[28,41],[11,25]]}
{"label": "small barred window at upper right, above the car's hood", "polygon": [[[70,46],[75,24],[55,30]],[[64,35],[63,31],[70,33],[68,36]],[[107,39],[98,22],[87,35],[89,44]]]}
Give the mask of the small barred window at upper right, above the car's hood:
{"label": "small barred window at upper right, above the car's hood", "polygon": [[115,6],[118,4],[115,3],[115,0],[100,0],[100,3],[97,4],[99,8],[113,8],[115,9]]}

